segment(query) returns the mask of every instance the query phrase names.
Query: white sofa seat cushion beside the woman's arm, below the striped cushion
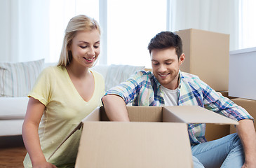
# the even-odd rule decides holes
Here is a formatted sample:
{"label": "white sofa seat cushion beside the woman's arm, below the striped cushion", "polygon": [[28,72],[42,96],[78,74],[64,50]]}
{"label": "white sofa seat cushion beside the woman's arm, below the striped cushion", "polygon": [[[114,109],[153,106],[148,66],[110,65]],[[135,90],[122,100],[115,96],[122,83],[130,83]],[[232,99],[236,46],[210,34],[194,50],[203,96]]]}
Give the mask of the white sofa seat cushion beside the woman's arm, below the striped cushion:
{"label": "white sofa seat cushion beside the woman's arm, below the striped cushion", "polygon": [[0,97],[0,120],[24,119],[28,97]]}

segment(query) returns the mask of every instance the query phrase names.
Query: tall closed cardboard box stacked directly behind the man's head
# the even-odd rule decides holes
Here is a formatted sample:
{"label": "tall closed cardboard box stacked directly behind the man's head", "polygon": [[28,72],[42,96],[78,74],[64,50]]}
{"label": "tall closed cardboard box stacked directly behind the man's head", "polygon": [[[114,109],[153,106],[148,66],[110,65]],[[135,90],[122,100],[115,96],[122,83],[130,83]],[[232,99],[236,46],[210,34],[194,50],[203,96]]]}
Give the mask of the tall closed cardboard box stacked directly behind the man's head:
{"label": "tall closed cardboard box stacked directly behind the man's head", "polygon": [[216,91],[229,90],[229,34],[199,29],[176,31],[185,60],[181,71],[193,73]]}

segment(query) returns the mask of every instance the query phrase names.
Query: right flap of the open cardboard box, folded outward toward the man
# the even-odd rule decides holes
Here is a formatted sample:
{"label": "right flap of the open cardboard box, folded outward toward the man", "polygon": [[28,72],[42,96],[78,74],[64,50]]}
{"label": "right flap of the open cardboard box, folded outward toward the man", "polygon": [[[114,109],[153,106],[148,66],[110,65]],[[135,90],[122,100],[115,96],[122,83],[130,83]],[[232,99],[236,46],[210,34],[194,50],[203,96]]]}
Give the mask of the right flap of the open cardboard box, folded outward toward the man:
{"label": "right flap of the open cardboard box, folded outward toward the man", "polygon": [[[168,111],[170,113],[168,113]],[[238,122],[199,106],[165,106],[164,122],[215,123],[238,125]]]}

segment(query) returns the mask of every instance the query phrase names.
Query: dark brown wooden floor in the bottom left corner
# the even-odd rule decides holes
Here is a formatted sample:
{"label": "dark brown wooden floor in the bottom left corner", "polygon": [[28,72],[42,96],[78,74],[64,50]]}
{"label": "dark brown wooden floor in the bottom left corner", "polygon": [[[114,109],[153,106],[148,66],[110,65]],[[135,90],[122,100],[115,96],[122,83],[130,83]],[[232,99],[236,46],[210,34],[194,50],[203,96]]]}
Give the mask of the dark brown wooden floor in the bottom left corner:
{"label": "dark brown wooden floor in the bottom left corner", "polygon": [[20,168],[27,151],[21,136],[0,137],[0,167]]}

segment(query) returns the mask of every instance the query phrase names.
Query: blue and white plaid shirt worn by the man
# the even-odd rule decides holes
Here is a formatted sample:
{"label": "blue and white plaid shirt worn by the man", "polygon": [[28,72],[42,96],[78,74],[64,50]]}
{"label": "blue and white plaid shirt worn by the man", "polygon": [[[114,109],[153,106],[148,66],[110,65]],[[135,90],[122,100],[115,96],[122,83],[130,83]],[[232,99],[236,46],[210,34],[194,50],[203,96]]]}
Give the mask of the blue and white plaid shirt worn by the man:
{"label": "blue and white plaid shirt worn by the man", "polygon": [[[253,119],[245,109],[223,97],[220,92],[215,92],[198,76],[182,71],[179,75],[178,106],[201,106],[237,121]],[[106,94],[117,94],[123,97],[126,104],[133,103],[133,106],[164,106],[164,93],[160,85],[151,71],[137,71]],[[206,142],[206,124],[189,124],[188,132],[191,145]]]}

